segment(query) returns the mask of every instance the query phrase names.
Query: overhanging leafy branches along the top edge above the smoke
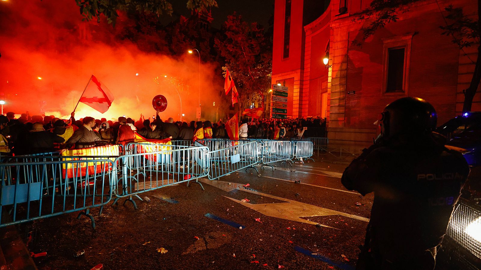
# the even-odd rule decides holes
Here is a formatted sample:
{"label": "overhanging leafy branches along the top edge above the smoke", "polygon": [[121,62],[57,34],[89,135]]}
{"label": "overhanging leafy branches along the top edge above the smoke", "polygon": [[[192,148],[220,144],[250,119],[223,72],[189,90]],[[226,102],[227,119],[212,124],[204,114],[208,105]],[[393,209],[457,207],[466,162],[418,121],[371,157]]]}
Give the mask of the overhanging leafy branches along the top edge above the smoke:
{"label": "overhanging leafy branches along the top edge above the smoke", "polygon": [[[75,0],[80,8],[82,20],[97,19],[100,23],[101,15],[107,18],[109,24],[115,25],[118,18],[117,11],[136,10],[138,12],[154,13],[157,16],[171,15],[172,4],[167,0]],[[190,10],[206,11],[209,7],[217,7],[215,0],[188,0]]]}

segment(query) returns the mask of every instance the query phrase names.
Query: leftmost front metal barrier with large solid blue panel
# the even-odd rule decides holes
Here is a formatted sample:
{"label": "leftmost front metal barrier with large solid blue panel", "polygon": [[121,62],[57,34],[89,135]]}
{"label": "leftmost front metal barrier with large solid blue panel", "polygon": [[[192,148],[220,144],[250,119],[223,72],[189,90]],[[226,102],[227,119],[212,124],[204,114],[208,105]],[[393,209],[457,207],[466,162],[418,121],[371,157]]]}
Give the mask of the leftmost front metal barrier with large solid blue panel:
{"label": "leftmost front metal barrier with large solid blue panel", "polygon": [[100,215],[112,198],[112,160],[19,156],[10,161],[0,163],[0,216],[8,211],[12,221],[0,221],[0,227],[82,211],[77,218],[89,217],[95,228],[90,209],[100,207]]}

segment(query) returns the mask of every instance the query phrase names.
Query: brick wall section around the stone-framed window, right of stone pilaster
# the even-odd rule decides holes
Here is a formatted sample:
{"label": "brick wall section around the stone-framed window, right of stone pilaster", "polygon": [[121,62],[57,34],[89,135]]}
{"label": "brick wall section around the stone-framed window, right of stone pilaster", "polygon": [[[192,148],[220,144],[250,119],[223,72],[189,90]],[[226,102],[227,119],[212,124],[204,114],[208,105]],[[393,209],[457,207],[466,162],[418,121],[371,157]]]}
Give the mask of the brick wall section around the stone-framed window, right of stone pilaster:
{"label": "brick wall section around the stone-framed window, right of stone pilaster", "polygon": [[[423,12],[423,8],[429,10]],[[361,47],[349,44],[346,94],[354,90],[355,95],[345,98],[345,127],[372,127],[383,107],[402,97],[381,94],[382,38],[412,32],[408,96],[430,102],[438,112],[439,124],[455,116],[459,49],[441,35],[443,19],[431,8],[416,7],[408,18],[386,25]],[[354,39],[361,39],[357,31],[349,35],[350,42]]]}

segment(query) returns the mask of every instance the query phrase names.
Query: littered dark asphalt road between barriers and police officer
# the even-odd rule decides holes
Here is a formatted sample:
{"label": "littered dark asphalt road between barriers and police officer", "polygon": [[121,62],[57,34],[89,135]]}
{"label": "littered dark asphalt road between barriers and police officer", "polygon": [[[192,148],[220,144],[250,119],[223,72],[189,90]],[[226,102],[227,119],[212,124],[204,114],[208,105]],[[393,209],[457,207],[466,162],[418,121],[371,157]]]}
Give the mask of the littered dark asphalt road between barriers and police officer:
{"label": "littered dark asphalt road between barriers and police officer", "polygon": [[278,166],[144,193],[138,210],[109,204],[96,230],[75,213],[21,228],[47,252],[39,269],[354,269],[373,196],[342,186],[346,165]]}

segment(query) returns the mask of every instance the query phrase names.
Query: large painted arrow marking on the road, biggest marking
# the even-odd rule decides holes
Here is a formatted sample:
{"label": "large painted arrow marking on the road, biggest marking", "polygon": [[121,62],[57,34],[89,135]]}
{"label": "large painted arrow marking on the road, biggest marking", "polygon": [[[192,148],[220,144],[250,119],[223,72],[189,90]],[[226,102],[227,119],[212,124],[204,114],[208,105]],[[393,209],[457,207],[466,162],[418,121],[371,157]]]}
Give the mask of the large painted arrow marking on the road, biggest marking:
{"label": "large painted arrow marking on the road, biggest marking", "polygon": [[[369,222],[369,219],[364,218],[364,217],[351,215],[351,214],[343,213],[343,212],[336,211],[336,210],[322,208],[322,207],[318,207],[318,206],[315,206],[315,205],[310,205],[310,204],[306,204],[306,203],[302,203],[302,202],[298,202],[298,201],[293,201],[293,200],[286,199],[286,198],[281,198],[281,197],[277,197],[277,196],[273,196],[273,195],[269,195],[269,194],[265,194],[265,193],[261,193],[261,192],[256,192],[256,191],[244,189],[244,188],[242,188],[242,184],[238,184],[238,183],[228,183],[228,182],[225,182],[225,181],[208,180],[208,179],[205,179],[205,178],[199,179],[199,181],[201,181],[205,184],[213,185],[213,186],[218,187],[218,188],[220,188],[222,190],[225,190],[225,191],[239,189],[239,190],[242,190],[242,191],[245,191],[245,192],[248,192],[248,193],[266,196],[266,197],[277,199],[277,200],[280,200],[280,201],[285,201],[283,203],[251,204],[251,203],[248,203],[248,202],[242,202],[240,200],[230,198],[228,196],[224,196],[224,197],[226,197],[226,198],[228,198],[232,201],[235,201],[235,202],[237,202],[237,203],[239,203],[239,204],[241,204],[241,205],[243,205],[247,208],[253,209],[253,210],[255,210],[255,211],[257,211],[261,214],[264,214],[266,216],[269,216],[269,217],[274,217],[274,218],[279,218],[279,219],[284,219],[284,220],[290,220],[290,221],[298,221],[298,222],[313,224],[313,225],[317,225],[318,223],[313,222],[313,221],[304,220],[304,219],[301,219],[301,218],[302,217],[318,217],[318,216],[340,215],[340,216],[349,217],[349,218],[353,218],[353,219],[360,220],[360,221]],[[323,224],[319,224],[319,225],[323,226],[323,227],[327,227],[327,228],[336,229],[336,228],[333,228],[333,227],[330,227],[330,226],[327,226],[327,225],[323,225]],[[336,230],[338,230],[338,229],[336,229]]]}

